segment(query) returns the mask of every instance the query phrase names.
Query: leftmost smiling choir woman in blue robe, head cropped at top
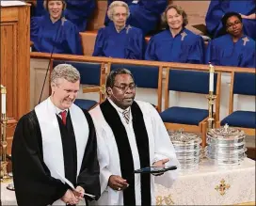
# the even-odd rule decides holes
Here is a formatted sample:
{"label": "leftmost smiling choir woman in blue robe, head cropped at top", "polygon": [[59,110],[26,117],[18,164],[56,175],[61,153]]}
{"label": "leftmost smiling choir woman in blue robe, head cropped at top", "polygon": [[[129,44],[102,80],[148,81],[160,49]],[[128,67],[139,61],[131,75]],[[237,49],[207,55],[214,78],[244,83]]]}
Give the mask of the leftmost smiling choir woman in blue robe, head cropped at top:
{"label": "leftmost smiling choir woman in blue robe, head cropped at top", "polygon": [[82,44],[76,26],[62,17],[66,8],[65,1],[45,0],[44,8],[47,9],[47,14],[31,19],[33,51],[82,55]]}

